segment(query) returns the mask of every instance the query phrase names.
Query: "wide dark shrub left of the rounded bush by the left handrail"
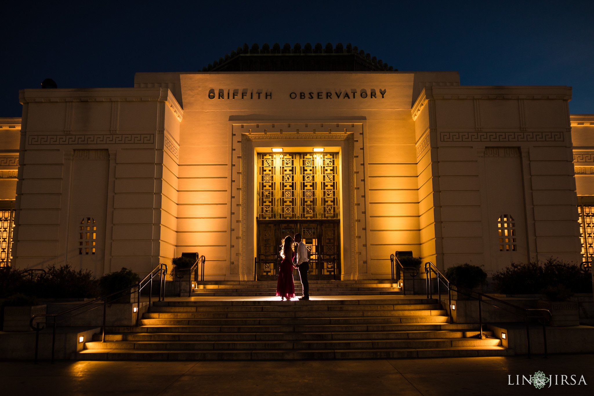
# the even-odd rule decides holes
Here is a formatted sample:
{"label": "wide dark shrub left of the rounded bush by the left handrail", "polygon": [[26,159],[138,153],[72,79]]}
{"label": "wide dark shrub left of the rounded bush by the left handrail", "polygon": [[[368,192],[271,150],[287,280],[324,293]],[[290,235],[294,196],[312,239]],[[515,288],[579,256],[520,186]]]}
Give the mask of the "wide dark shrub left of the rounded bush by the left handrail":
{"label": "wide dark shrub left of the rounded bush by the left handrail", "polygon": [[89,270],[73,270],[70,265],[52,265],[34,281],[31,294],[38,298],[89,298],[99,294],[99,285]]}

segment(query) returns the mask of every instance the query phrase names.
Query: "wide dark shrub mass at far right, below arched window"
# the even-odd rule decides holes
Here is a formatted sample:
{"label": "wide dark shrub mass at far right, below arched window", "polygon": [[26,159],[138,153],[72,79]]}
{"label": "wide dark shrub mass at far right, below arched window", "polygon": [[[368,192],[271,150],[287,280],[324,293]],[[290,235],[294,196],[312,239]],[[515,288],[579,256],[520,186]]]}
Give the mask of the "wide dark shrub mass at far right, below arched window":
{"label": "wide dark shrub mass at far right, below arched window", "polygon": [[503,294],[543,293],[549,286],[563,285],[573,293],[592,292],[592,277],[570,262],[549,258],[529,263],[512,262],[493,274],[495,290]]}

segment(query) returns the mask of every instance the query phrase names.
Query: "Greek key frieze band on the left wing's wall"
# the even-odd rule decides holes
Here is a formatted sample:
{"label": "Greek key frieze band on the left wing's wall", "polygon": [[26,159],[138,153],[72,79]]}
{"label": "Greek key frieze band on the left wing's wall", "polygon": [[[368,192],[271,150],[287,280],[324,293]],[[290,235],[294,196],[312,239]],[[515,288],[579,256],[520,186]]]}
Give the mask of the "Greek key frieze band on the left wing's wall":
{"label": "Greek key frieze band on the left wing's wall", "polygon": [[152,144],[154,134],[31,135],[30,145],[41,144]]}

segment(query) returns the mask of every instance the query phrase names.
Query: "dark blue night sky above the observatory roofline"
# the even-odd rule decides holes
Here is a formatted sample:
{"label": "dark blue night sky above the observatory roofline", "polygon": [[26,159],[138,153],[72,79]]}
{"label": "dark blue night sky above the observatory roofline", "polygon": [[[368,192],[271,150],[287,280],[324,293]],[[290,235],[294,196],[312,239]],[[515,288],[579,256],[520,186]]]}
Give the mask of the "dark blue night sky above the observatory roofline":
{"label": "dark blue night sky above the observatory roofline", "polygon": [[[414,3],[412,5],[412,3]],[[0,116],[18,90],[131,87],[139,71],[197,71],[248,43],[352,43],[400,71],[462,85],[569,85],[594,113],[594,1],[3,2]]]}

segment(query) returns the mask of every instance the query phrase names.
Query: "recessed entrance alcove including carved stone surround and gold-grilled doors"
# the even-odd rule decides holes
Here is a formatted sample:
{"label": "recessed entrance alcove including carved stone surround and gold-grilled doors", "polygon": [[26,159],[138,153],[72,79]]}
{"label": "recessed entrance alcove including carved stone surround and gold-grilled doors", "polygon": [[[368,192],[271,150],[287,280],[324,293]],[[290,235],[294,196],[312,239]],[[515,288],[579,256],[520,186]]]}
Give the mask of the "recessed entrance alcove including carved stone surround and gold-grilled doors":
{"label": "recessed entrance alcove including carved stone surround and gold-grilled doors", "polygon": [[312,279],[356,278],[363,130],[361,121],[232,123],[232,273],[276,279],[279,245],[299,232]]}

